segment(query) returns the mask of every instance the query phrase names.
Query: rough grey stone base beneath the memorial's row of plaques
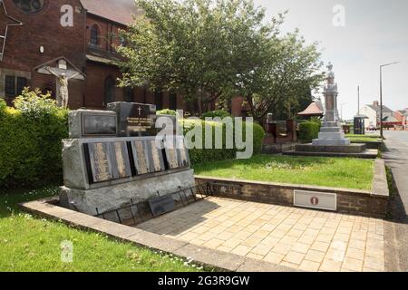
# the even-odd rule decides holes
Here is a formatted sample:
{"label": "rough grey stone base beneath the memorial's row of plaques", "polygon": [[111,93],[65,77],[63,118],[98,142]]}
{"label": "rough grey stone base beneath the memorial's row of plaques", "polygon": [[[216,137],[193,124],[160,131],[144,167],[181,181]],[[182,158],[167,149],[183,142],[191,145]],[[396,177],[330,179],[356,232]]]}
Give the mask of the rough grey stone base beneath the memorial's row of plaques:
{"label": "rough grey stone base beneath the memorial's row of plaques", "polygon": [[[187,169],[171,174],[134,180],[98,189],[61,188],[60,206],[95,216],[112,209],[121,208],[149,198],[164,196],[181,189],[194,187],[194,171]],[[187,190],[189,193],[189,190]],[[176,200],[177,202],[177,200]]]}

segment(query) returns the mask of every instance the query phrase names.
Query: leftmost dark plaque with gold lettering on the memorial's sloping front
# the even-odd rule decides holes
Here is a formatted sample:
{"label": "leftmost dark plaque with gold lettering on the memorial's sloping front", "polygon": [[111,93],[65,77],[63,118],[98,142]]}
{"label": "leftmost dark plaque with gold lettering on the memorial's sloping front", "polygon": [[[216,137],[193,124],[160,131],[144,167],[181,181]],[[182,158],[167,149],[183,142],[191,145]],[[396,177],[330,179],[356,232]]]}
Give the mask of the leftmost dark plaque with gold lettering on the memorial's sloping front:
{"label": "leftmost dark plaque with gold lettering on the memorial's sloping front", "polygon": [[88,143],[85,144],[88,150],[90,181],[92,183],[109,181],[113,179],[112,163],[109,143]]}

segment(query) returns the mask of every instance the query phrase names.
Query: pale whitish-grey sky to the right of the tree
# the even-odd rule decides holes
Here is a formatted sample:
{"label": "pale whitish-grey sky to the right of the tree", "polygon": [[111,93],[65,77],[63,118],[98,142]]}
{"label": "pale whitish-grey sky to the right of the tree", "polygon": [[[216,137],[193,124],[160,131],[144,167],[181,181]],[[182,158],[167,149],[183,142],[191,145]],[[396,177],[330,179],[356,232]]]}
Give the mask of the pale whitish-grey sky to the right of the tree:
{"label": "pale whitish-grey sky to the right of the tree", "polygon": [[[332,62],[339,85],[344,118],[361,103],[379,99],[379,66],[384,69],[384,104],[393,110],[408,107],[408,1],[406,0],[254,0],[267,16],[289,10],[283,31],[296,27],[309,43],[318,42],[322,60]],[[335,5],[345,7],[345,26],[335,26]]]}

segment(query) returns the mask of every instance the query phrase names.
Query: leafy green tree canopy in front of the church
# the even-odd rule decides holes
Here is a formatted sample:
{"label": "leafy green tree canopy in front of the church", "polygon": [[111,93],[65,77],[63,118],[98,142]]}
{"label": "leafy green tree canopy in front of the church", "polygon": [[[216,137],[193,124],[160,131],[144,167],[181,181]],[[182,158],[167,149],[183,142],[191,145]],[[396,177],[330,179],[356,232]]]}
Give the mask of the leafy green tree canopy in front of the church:
{"label": "leafy green tree canopy in front of the church", "polygon": [[316,87],[316,44],[282,34],[251,0],[136,0],[144,15],[122,32],[122,86],[172,90],[186,101],[242,96],[257,120]]}

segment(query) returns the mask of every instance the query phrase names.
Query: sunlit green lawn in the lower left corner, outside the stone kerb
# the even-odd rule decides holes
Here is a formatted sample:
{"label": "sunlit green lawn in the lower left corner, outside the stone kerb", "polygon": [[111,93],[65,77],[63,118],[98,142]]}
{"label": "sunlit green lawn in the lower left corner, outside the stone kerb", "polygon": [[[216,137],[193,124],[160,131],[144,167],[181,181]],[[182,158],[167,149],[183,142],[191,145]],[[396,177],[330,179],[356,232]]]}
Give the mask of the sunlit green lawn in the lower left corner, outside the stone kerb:
{"label": "sunlit green lawn in the lower left corner, outside the stone kerb", "polygon": [[[17,203],[56,195],[57,188],[0,192],[0,272],[5,271],[198,271],[178,257],[155,253],[20,212]],[[73,263],[61,259],[63,241],[73,243]]]}

